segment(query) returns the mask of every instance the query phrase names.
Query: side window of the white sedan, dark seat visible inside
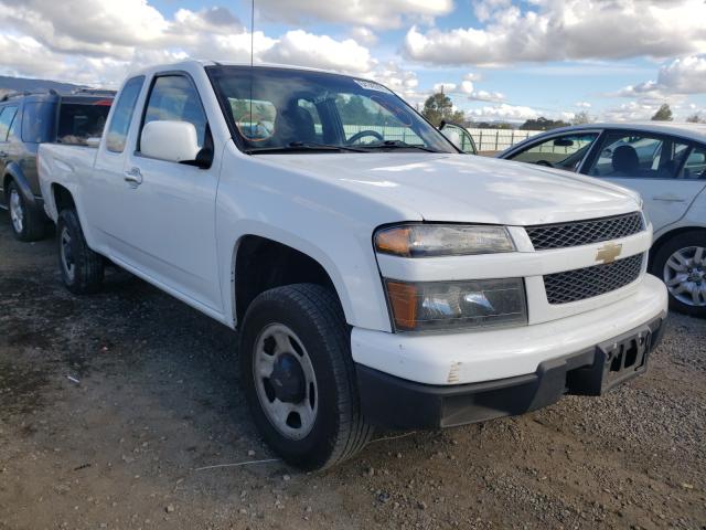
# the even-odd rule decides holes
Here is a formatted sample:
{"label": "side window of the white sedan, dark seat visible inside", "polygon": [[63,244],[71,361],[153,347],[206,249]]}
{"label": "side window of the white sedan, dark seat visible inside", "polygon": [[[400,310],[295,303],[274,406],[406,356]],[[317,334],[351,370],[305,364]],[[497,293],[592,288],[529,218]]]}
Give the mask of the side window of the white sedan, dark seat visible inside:
{"label": "side window of the white sedan, dark seat visible inside", "polygon": [[640,132],[606,135],[588,174],[633,179],[673,179],[689,152],[687,145]]}

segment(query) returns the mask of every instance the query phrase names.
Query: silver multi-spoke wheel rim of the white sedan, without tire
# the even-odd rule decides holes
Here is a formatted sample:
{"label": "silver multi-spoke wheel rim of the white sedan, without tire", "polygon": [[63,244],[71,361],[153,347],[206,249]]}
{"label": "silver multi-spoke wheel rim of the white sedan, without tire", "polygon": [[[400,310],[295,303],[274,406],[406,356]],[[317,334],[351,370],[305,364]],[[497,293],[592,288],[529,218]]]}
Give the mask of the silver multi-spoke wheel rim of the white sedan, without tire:
{"label": "silver multi-spoke wheel rim of the white sedan, without tire", "polygon": [[706,248],[687,246],[664,264],[664,283],[674,298],[688,306],[706,306]]}

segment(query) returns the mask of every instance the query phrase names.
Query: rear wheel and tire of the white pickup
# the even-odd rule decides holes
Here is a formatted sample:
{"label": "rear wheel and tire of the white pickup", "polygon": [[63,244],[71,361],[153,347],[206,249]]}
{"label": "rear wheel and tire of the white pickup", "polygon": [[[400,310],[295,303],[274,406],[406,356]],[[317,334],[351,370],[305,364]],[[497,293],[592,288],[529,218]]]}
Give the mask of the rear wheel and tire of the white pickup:
{"label": "rear wheel and tire of the white pickup", "polygon": [[104,277],[103,256],[93,252],[75,210],[62,210],[56,221],[58,268],[62,280],[75,295],[100,290]]}

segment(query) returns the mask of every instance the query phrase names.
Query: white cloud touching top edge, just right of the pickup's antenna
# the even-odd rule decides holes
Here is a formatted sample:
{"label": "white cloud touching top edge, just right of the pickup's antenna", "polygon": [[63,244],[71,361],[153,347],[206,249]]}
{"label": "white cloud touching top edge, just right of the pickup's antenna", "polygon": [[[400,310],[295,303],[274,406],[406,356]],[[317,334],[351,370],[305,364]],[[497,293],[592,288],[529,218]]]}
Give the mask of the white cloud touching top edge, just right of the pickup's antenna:
{"label": "white cloud touching top edge, just right of the pickup's antenna", "polygon": [[407,20],[430,22],[448,14],[452,0],[258,0],[268,20],[289,23],[338,22],[376,29],[399,28]]}

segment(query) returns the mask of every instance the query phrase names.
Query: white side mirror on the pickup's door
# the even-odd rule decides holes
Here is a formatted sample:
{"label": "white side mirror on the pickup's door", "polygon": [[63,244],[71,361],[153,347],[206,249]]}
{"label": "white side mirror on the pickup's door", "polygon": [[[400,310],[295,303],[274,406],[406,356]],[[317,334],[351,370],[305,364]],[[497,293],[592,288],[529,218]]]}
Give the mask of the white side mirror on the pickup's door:
{"label": "white side mirror on the pickup's door", "polygon": [[193,124],[186,121],[150,121],[142,128],[140,152],[168,162],[195,165],[199,137]]}

